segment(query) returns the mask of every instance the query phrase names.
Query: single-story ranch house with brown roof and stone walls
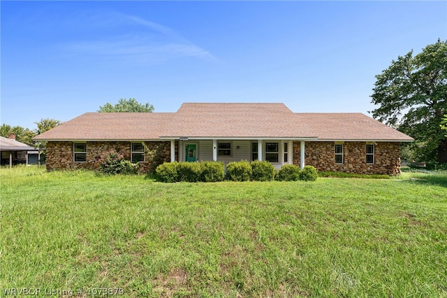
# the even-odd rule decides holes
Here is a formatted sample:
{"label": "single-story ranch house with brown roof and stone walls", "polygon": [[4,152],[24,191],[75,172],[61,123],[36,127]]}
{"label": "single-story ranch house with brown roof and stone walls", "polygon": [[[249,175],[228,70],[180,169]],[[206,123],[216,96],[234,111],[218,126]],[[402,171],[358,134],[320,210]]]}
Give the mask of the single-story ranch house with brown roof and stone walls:
{"label": "single-story ranch house with brown roof and stone walls", "polygon": [[413,139],[362,113],[293,113],[284,104],[182,104],[176,113],[85,113],[34,138],[46,166],[98,169],[116,150],[149,171],[149,150],[166,162],[267,160],[318,171],[400,173],[400,143]]}

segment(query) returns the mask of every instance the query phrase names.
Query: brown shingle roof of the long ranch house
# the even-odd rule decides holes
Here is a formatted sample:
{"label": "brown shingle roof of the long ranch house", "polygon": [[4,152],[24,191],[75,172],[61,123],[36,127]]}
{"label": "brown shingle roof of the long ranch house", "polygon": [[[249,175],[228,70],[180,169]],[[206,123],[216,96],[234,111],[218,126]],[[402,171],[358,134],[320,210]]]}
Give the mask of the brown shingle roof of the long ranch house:
{"label": "brown shingle roof of the long ranch house", "polygon": [[361,113],[293,113],[284,104],[182,104],[177,113],[85,113],[36,140],[295,138],[413,141]]}

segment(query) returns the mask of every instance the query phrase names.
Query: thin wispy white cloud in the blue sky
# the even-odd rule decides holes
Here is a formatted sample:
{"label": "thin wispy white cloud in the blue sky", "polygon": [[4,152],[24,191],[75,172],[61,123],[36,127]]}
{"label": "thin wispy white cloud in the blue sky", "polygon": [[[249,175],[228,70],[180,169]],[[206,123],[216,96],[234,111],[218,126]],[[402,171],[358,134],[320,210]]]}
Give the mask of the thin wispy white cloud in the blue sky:
{"label": "thin wispy white cloud in the blue sky", "polygon": [[[180,57],[217,61],[210,52],[194,44],[169,27],[135,15],[108,13],[95,15],[92,26],[109,28],[84,41],[65,44],[72,54],[89,55],[111,62],[160,64]],[[110,28],[126,31],[115,33]]]}

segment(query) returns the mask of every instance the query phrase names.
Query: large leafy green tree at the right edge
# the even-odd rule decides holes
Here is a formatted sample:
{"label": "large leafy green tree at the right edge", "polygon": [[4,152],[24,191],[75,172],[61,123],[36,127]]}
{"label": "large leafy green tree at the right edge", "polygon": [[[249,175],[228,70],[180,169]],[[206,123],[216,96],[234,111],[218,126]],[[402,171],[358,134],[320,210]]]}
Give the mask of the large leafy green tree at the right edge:
{"label": "large leafy green tree at the right edge", "polygon": [[376,76],[373,117],[415,139],[425,161],[447,162],[447,137],[441,121],[447,113],[447,41],[411,50]]}

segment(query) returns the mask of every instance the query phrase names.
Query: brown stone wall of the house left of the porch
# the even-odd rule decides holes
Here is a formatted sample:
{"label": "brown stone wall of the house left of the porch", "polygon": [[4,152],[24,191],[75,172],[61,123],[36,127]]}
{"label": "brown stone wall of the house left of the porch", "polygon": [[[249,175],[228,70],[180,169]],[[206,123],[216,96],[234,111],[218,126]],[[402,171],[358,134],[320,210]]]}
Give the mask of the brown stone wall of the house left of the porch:
{"label": "brown stone wall of the house left of the porch", "polygon": [[[47,143],[45,164],[48,171],[55,169],[90,169],[99,171],[99,159],[112,151],[124,155],[124,159],[131,159],[131,143],[133,142],[87,141],[87,162],[74,162],[73,143],[76,142]],[[170,162],[170,141],[145,142],[145,144],[149,150],[154,150],[161,144],[163,160]],[[178,159],[178,142],[175,142],[175,159]],[[147,153],[145,153],[145,162],[140,162],[140,172],[149,170],[151,170],[151,164]]]}

